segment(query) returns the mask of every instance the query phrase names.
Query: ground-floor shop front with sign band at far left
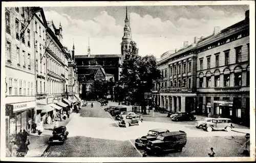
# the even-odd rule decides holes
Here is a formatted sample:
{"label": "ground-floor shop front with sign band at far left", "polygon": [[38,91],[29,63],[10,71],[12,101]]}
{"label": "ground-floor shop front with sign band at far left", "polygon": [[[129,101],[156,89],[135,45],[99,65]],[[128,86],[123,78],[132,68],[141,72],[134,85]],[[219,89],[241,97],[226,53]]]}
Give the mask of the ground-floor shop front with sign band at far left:
{"label": "ground-floor shop front with sign band at far left", "polygon": [[30,131],[31,121],[35,119],[35,106],[35,101],[6,104],[6,115],[9,116],[9,122],[7,122],[9,134],[6,142],[15,138],[20,130]]}

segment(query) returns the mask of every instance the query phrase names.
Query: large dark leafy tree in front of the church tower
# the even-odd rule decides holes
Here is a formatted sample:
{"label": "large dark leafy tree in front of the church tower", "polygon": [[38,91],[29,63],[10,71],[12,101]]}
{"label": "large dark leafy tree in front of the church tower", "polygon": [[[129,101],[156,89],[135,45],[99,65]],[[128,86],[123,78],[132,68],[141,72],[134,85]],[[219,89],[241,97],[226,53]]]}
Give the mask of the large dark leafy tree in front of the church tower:
{"label": "large dark leafy tree in front of the church tower", "polygon": [[119,95],[121,93],[141,103],[145,113],[144,93],[151,92],[154,80],[160,79],[161,74],[157,69],[157,61],[153,55],[141,57],[138,52],[137,44],[131,41],[130,51],[126,51],[122,64],[118,89]]}

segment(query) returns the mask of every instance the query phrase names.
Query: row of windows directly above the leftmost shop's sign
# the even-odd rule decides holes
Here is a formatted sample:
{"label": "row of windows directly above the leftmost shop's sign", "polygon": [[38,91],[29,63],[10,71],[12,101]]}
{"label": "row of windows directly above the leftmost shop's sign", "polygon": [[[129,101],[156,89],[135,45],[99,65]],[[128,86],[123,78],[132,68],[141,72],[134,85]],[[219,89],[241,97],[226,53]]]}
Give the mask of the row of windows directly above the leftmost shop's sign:
{"label": "row of windows directly above the leftmost shop's sign", "polygon": [[[33,94],[33,82],[27,82],[26,80],[18,80],[5,78],[6,92],[8,95],[32,95]],[[28,84],[28,85],[26,85]]]}

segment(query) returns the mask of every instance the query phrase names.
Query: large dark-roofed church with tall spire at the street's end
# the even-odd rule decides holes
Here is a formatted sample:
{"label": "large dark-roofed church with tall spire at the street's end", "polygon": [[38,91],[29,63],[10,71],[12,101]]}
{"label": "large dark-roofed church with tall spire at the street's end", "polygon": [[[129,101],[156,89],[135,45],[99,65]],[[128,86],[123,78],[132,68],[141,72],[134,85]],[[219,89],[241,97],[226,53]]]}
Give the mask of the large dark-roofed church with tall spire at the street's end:
{"label": "large dark-roofed church with tall spire at the street's end", "polygon": [[126,52],[130,50],[130,42],[132,41],[127,7],[123,30],[121,54],[91,54],[89,40],[88,53],[75,55],[81,98],[86,98],[86,93],[90,92],[95,80],[118,81],[120,79],[121,66]]}

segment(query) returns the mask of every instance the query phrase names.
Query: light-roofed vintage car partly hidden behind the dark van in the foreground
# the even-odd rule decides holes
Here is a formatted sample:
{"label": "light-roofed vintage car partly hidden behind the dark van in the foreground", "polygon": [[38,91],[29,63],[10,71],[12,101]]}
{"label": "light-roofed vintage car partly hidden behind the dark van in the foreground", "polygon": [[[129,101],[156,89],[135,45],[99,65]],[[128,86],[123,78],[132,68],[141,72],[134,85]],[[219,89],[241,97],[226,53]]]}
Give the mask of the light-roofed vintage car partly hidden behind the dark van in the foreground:
{"label": "light-roofed vintage car partly hidden behind the dark van in the foreground", "polygon": [[135,146],[136,148],[144,148],[148,141],[154,141],[158,135],[161,135],[163,133],[170,132],[167,129],[164,128],[156,128],[148,131],[147,135],[142,136],[141,138],[137,138],[135,140]]}

